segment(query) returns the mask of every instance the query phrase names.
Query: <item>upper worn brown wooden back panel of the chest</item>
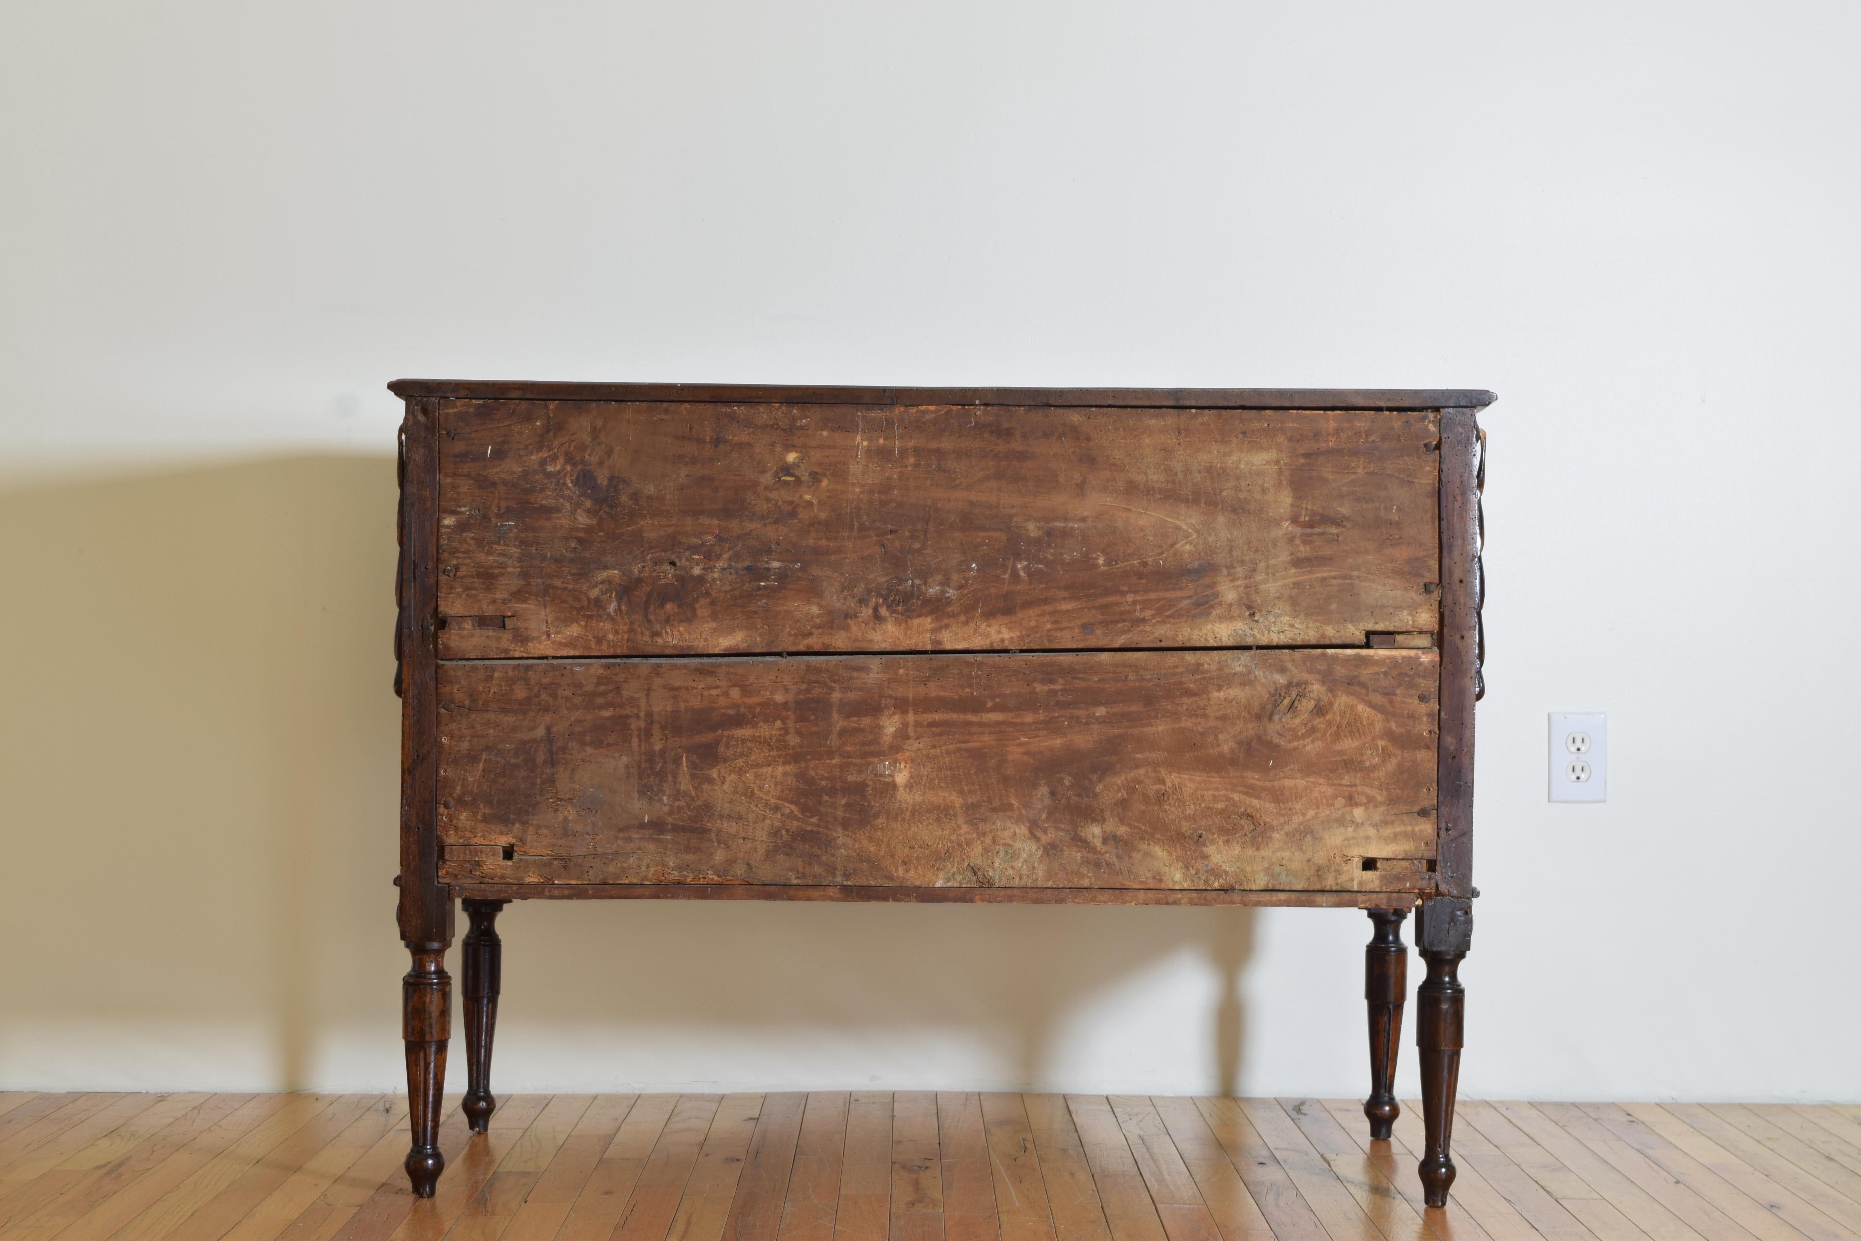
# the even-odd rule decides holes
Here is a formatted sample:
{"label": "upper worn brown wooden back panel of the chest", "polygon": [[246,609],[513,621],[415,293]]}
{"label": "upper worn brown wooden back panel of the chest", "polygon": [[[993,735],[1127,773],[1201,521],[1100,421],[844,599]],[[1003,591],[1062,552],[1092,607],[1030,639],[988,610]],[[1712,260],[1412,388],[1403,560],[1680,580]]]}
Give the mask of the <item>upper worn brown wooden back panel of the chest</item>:
{"label": "upper worn brown wooden back panel of the chest", "polygon": [[1429,411],[449,400],[445,659],[1433,631]]}

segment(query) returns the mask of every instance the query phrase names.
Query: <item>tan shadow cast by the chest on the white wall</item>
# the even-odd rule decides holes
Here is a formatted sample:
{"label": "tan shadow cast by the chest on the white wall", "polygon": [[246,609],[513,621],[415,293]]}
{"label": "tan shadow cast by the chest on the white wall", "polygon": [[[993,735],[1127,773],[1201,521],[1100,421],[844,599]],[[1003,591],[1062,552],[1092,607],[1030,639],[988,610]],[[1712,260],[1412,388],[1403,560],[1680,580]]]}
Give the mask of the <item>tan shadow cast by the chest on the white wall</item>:
{"label": "tan shadow cast by the chest on the white wall", "polygon": [[[0,1087],[396,1088],[393,460],[22,489],[0,528]],[[1254,912],[521,902],[501,932],[504,1088],[849,1087],[929,1046],[970,1048],[947,1087],[1063,1087],[1068,1012],[1191,953],[1187,1075],[1232,1092]]]}

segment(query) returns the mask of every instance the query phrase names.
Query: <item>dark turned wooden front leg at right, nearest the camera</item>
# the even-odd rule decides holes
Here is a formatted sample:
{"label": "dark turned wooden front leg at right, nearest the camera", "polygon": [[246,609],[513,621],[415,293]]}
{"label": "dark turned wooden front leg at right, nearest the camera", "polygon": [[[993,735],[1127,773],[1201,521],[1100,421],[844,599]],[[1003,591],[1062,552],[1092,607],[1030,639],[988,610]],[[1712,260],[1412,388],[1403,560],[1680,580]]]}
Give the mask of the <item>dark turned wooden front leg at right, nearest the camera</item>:
{"label": "dark turned wooden front leg at right, nearest the camera", "polygon": [[1461,1081],[1466,992],[1457,971],[1472,943],[1470,901],[1437,897],[1422,902],[1416,945],[1427,979],[1414,992],[1414,1046],[1422,1053],[1422,1128],[1426,1148],[1418,1172],[1427,1206],[1448,1206],[1453,1185],[1453,1094]]}

